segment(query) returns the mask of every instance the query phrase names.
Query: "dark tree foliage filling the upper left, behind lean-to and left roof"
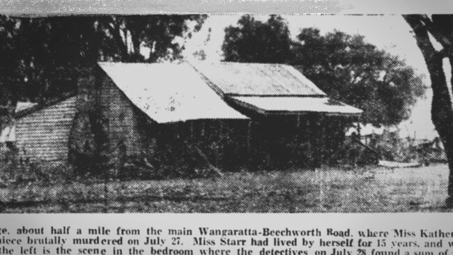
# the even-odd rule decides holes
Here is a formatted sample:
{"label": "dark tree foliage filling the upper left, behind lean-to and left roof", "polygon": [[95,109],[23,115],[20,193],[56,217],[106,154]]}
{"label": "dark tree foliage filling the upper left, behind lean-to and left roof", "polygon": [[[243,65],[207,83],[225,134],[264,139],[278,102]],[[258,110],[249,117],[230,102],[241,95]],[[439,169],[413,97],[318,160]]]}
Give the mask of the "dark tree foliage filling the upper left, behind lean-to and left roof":
{"label": "dark tree foliage filling the upper left, behind lean-to and left roof", "polygon": [[[75,91],[80,70],[97,61],[181,58],[176,38],[189,38],[206,15],[6,17],[0,15],[0,76],[14,79],[17,100],[45,102]],[[192,24],[194,23],[194,24]],[[148,56],[140,49],[148,47]],[[12,84],[12,82],[3,82]],[[3,94],[4,95],[4,94]]]}

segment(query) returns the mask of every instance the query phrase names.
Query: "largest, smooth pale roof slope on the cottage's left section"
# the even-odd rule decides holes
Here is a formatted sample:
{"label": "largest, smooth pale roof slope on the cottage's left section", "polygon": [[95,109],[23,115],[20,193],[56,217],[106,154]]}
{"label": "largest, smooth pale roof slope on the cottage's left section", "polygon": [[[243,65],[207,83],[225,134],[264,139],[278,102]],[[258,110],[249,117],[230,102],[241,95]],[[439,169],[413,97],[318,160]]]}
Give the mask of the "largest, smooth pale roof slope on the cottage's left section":
{"label": "largest, smooth pale roof slope on the cottage's left section", "polygon": [[245,119],[187,63],[99,63],[141,111],[158,123]]}

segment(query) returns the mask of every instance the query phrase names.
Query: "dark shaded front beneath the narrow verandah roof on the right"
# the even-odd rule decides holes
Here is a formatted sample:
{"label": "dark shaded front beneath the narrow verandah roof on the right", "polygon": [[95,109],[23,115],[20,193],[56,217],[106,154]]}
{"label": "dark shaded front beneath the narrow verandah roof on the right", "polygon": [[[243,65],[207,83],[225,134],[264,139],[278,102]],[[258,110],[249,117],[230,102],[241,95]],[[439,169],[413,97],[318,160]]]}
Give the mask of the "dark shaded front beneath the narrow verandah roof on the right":
{"label": "dark shaded front beneath the narrow verandah roof on the right", "polygon": [[344,141],[343,117],[305,114],[255,118],[252,164],[264,169],[313,168],[337,152]]}

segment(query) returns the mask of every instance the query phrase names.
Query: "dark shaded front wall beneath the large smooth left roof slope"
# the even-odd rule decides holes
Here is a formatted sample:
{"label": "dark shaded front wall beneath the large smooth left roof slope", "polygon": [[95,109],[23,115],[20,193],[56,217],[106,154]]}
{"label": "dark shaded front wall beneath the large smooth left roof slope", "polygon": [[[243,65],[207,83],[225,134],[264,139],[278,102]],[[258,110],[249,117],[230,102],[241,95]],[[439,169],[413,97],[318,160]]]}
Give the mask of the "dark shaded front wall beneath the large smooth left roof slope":
{"label": "dark shaded front wall beneath the large smooth left roof slope", "polygon": [[158,157],[166,167],[204,169],[208,164],[227,171],[240,171],[249,160],[249,120],[205,119],[161,124]]}

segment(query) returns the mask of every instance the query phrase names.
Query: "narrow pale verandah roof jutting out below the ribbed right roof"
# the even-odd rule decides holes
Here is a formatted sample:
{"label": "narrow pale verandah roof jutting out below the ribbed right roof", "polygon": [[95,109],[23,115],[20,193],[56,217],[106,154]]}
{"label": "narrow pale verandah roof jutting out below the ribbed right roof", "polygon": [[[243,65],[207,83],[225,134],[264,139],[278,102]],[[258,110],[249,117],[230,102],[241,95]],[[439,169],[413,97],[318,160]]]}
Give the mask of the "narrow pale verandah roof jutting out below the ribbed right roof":
{"label": "narrow pale verandah roof jutting out below the ribbed right roof", "polygon": [[232,97],[239,105],[261,114],[322,112],[328,115],[358,116],[362,110],[330,98]]}

